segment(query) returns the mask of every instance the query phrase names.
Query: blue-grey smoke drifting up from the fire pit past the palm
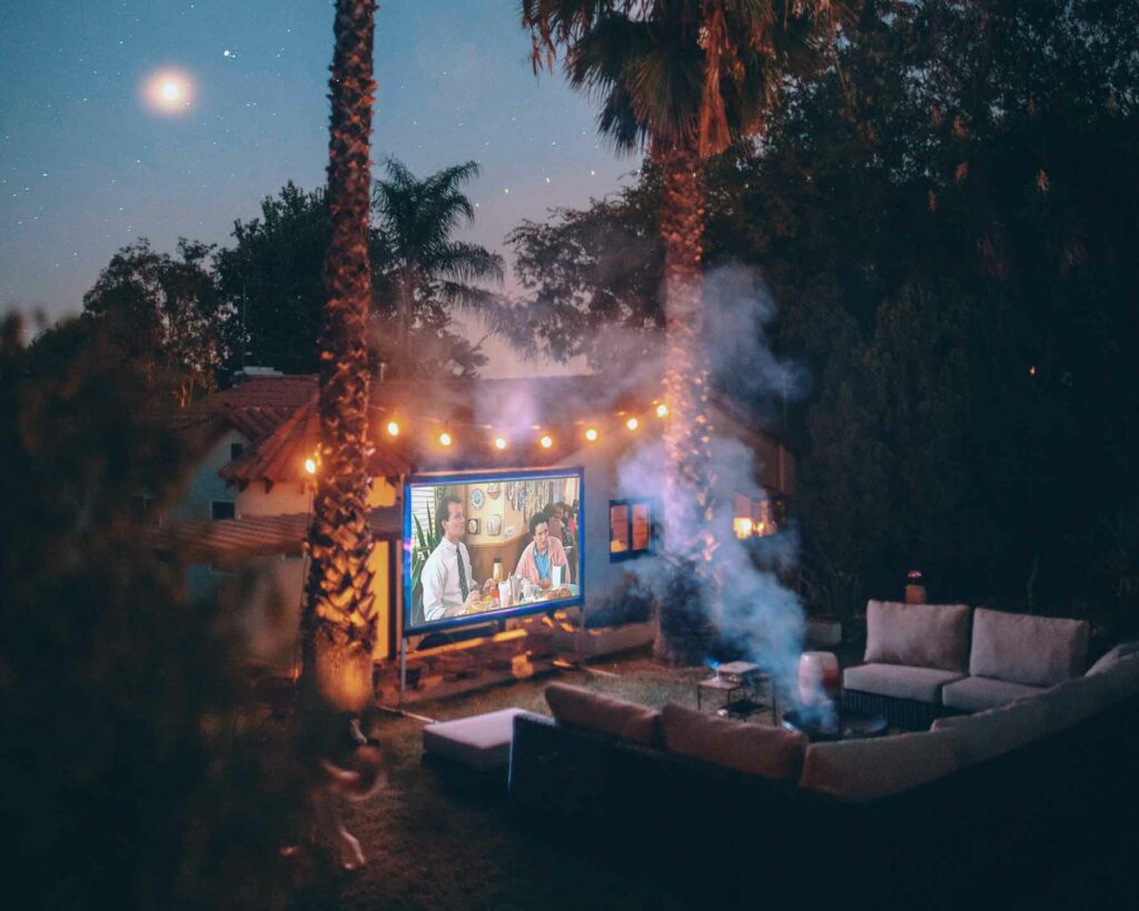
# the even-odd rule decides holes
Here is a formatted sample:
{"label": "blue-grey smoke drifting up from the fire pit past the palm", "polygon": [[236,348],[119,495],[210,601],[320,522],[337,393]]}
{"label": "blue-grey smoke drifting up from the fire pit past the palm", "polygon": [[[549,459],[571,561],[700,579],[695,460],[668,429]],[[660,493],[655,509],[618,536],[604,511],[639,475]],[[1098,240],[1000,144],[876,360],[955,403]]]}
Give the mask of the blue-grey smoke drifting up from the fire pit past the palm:
{"label": "blue-grey smoke drifting up from the fire pit past the palm", "polygon": [[[708,272],[703,293],[713,389],[726,393],[748,421],[770,427],[779,408],[804,396],[810,387],[804,368],[779,359],[771,350],[768,327],[776,317],[771,293],[757,270],[739,265]],[[528,306],[536,313],[552,304],[535,298]],[[567,328],[573,323],[560,325]],[[518,331],[522,337],[534,338],[525,330]],[[664,345],[659,329],[611,322],[581,342],[582,350],[604,353],[604,386],[583,383],[577,393],[567,396],[563,384],[559,391],[565,397],[552,403],[551,410],[551,403],[542,400],[540,380],[527,383],[511,391],[508,401],[487,396],[476,402],[476,419],[505,427],[506,416],[513,416],[509,424],[515,432],[532,433],[531,425],[542,420],[541,416],[549,419],[556,409],[579,415],[612,413],[626,399],[644,408],[645,391],[661,388]],[[538,347],[543,345],[538,343]],[[719,542],[711,569],[718,585],[697,592],[699,604],[690,607],[714,625],[727,650],[759,664],[772,674],[785,695],[793,693],[805,617],[798,596],[781,577],[797,566],[797,534],[784,528],[762,539],[737,539],[732,533],[734,495],[753,500],[762,496],[756,478],[762,476],[763,466],[756,463],[754,449],[735,438],[728,427],[716,427],[714,417],[711,454],[713,527]],[[645,435],[618,463],[616,495],[656,498],[664,507],[663,515],[670,506],[659,500],[665,490],[664,468],[659,437]],[[658,598],[670,592],[672,566],[665,560],[634,560],[628,566]]]}

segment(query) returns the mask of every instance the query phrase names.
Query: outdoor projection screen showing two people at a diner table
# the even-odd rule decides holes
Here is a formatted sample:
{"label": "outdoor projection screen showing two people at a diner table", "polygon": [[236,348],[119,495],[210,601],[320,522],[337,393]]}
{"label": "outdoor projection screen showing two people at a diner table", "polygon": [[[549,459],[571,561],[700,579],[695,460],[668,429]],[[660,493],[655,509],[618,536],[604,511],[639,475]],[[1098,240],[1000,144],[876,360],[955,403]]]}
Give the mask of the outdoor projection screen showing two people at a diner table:
{"label": "outdoor projection screen showing two people at a diner table", "polygon": [[580,469],[412,477],[404,634],[581,601]]}

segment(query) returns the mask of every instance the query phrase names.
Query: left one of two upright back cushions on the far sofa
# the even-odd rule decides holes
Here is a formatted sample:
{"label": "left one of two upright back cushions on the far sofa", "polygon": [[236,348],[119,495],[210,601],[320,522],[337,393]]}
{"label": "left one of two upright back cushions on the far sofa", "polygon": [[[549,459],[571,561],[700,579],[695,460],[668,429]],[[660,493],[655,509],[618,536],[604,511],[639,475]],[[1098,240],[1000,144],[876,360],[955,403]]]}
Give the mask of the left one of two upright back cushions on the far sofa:
{"label": "left one of two upright back cushions on the far sofa", "polygon": [[866,663],[965,671],[969,608],[965,605],[903,605],[869,601]]}

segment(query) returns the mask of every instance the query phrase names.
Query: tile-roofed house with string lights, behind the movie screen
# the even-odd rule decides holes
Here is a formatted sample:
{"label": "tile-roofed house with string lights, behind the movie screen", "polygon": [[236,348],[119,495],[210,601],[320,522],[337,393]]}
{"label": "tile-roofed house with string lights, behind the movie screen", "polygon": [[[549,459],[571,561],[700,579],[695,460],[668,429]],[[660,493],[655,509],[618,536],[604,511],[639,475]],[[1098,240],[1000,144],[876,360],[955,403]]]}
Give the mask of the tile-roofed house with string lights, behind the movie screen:
{"label": "tile-roofed house with string lights, behind the movie screen", "polygon": [[[402,638],[402,556],[411,550],[403,540],[402,500],[409,477],[580,468],[587,605],[625,583],[629,559],[653,559],[646,530],[657,524],[659,477],[630,465],[645,443],[659,438],[666,410],[657,389],[655,383],[600,375],[374,383],[369,523],[377,540],[377,660],[394,657]],[[713,399],[710,411],[718,433],[739,441],[759,466],[756,477],[732,490],[735,523],[723,533],[775,531],[794,494],[794,459],[734,402]],[[264,597],[297,612],[320,470],[317,378],[252,377],[182,424],[199,435],[204,454],[166,537],[191,555],[191,588],[255,563],[271,567]],[[284,651],[278,648],[276,657]]]}

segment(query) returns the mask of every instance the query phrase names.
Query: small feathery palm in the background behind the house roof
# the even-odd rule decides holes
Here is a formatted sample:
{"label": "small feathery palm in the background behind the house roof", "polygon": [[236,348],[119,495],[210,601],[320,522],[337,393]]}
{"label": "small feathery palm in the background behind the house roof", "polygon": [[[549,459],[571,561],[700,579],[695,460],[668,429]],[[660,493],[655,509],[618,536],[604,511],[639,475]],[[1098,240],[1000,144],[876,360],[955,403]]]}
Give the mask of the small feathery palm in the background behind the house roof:
{"label": "small feathery palm in the background behind the house roof", "polygon": [[410,371],[408,335],[417,310],[446,304],[475,309],[490,295],[468,282],[502,280],[502,257],[477,244],[451,240],[464,221],[475,220],[470,200],[460,191],[478,177],[474,162],[453,165],[419,180],[395,158],[388,158],[387,180],[374,187],[372,211],[394,261],[394,372]]}

